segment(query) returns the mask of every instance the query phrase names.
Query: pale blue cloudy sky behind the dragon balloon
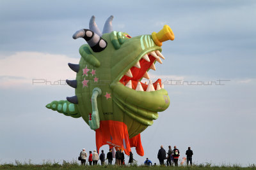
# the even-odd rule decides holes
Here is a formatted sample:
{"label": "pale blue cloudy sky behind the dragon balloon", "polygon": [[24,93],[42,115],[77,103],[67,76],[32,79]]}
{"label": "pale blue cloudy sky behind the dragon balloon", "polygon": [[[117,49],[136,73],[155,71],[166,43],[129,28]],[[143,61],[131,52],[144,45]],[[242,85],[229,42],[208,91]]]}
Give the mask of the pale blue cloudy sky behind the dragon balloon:
{"label": "pale blue cloudy sky behind the dragon balloon", "polygon": [[0,1],[0,164],[61,164],[95,149],[95,132],[82,118],[45,108],[74,96],[63,80],[76,77],[67,63],[79,62],[85,42],[72,34],[88,28],[92,15],[101,30],[113,15],[113,29],[131,36],[165,24],[175,34],[163,43],[163,64],[148,73],[166,82],[171,103],[141,133],[138,164],[147,157],[159,164],[160,145],[176,145],[181,158],[191,146],[195,164],[255,164],[255,8],[236,0]]}

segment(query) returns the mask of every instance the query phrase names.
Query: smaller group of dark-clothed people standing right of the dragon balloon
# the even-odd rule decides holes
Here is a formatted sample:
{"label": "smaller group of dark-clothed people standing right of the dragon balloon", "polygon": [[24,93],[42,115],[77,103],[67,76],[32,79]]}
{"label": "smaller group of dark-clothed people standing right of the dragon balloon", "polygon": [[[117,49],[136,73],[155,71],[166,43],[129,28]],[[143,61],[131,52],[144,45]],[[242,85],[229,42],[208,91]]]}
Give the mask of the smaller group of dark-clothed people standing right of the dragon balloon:
{"label": "smaller group of dark-clothed people standing right of the dragon balloon", "polygon": [[[168,147],[168,152],[166,152],[163,148],[163,145],[161,145],[158,154],[157,154],[157,159],[159,159],[160,165],[164,165],[164,159],[166,160],[166,165],[167,166],[173,166],[173,163],[175,166],[178,166],[178,160],[180,156],[180,151],[177,149],[177,146],[174,146],[174,149],[172,150],[172,146]],[[167,154],[167,157],[166,157]],[[188,150],[186,151],[187,155],[187,165],[190,162],[190,165],[192,165],[192,155],[193,151],[191,150],[190,147],[188,147]]]}

